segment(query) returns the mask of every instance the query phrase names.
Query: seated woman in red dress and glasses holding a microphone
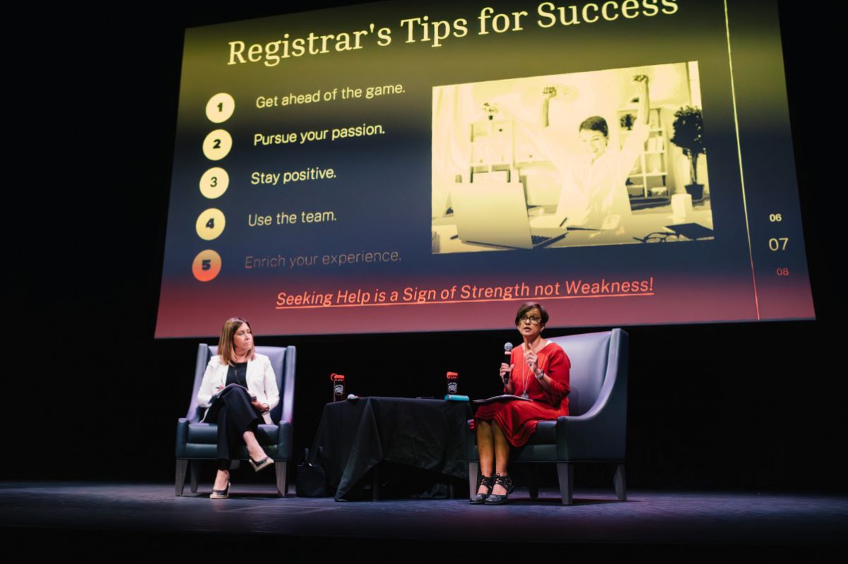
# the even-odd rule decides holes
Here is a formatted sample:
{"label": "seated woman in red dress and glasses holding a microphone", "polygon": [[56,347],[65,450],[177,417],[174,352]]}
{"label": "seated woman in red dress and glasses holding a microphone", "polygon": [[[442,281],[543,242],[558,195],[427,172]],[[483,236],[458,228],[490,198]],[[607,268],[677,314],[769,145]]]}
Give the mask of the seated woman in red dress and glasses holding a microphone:
{"label": "seated woman in red dress and glasses holding a microphone", "polygon": [[[572,366],[561,346],[542,338],[548,312],[542,304],[528,302],[518,308],[516,327],[522,346],[512,349],[510,364],[500,365],[504,394],[516,399],[480,406],[474,416],[477,451],[483,478],[471,503],[499,505],[512,493],[506,465],[510,445],[527,444],[539,421],[568,415],[568,372]],[[527,401],[531,400],[531,401]]]}

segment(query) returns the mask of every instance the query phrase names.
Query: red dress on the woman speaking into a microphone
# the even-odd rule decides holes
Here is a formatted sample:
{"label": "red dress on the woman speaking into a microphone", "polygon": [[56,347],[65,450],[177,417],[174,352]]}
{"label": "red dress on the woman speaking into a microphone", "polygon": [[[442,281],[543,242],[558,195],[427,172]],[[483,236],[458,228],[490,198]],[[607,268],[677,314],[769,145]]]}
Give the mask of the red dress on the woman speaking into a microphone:
{"label": "red dress on the woman speaking into a microphone", "polygon": [[553,342],[548,342],[536,352],[538,368],[550,376],[550,391],[538,383],[536,376],[524,362],[522,347],[512,349],[510,362],[515,364],[510,375],[512,393],[522,395],[527,386],[527,395],[533,401],[499,401],[480,406],[475,418],[481,421],[495,421],[504,432],[510,445],[523,446],[536,432],[539,421],[552,421],[556,417],[568,415],[568,372],[572,362],[566,351]]}

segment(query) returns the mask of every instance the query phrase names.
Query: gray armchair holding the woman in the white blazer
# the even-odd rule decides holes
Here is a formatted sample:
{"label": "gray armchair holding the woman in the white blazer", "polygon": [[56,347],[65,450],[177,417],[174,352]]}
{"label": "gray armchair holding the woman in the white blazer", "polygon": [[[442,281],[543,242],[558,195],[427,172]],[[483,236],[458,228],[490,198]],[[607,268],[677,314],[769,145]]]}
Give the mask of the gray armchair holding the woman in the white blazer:
{"label": "gray armchair holding the woman in the white blazer", "polygon": [[[276,468],[276,490],[285,496],[287,489],[286,466],[292,456],[292,412],[294,409],[294,361],[293,346],[257,346],[256,352],[269,357],[274,368],[276,385],[280,390],[280,403],[271,410],[272,425],[260,424],[256,439],[271,456]],[[217,346],[203,343],[198,346],[198,360],[194,368],[192,401],[186,417],[176,423],[176,495],[182,495],[186,484],[186,473],[190,474],[192,492],[198,490],[198,467],[202,460],[215,460],[217,452],[217,426],[215,423],[200,423],[204,408],[198,407],[198,390],[204,379],[206,365],[212,355],[218,354]],[[247,447],[243,447],[242,460],[247,460]]]}

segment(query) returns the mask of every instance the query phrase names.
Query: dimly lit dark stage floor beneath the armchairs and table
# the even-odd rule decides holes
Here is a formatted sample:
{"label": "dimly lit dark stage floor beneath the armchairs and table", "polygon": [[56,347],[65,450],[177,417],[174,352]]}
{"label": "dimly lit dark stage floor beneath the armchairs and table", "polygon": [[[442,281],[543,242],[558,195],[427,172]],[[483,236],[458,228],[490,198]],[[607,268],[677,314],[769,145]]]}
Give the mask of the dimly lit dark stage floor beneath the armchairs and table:
{"label": "dimly lit dark stage floor beneath the armchairs and table", "polygon": [[[818,556],[844,556],[848,538],[844,496],[635,490],[620,502],[612,491],[578,490],[575,504],[562,506],[553,489],[543,490],[539,500],[518,489],[505,506],[471,506],[466,499],[278,498],[272,484],[234,485],[231,495],[209,500],[209,484],[197,495],[176,497],[173,484],[6,482],[0,484],[0,527],[8,539],[30,545],[39,538],[57,539],[58,545],[70,538],[103,545],[142,538],[136,550],[153,550],[159,540],[165,547],[189,539],[183,540],[187,548],[226,534],[275,545],[286,538],[304,556],[314,550],[315,556],[343,554],[375,542],[416,546],[418,554],[579,544],[597,556],[604,545],[615,547],[605,552],[611,556],[652,548],[659,552],[651,554],[672,561],[716,556],[731,547],[773,556],[808,557],[810,549]],[[39,545],[49,551],[53,543]]]}

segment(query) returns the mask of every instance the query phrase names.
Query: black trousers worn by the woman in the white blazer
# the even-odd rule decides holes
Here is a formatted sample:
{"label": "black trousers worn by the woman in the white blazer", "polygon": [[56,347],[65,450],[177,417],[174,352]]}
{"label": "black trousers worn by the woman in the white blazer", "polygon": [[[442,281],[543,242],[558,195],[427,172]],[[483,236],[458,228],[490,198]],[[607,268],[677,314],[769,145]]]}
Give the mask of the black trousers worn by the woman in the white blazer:
{"label": "black trousers worn by the woman in the white blazer", "polygon": [[263,419],[251,405],[248,390],[239,387],[224,390],[209,409],[212,413],[206,420],[218,423],[218,469],[226,470],[232,459],[241,457],[239,450],[244,444],[244,432],[255,431]]}

